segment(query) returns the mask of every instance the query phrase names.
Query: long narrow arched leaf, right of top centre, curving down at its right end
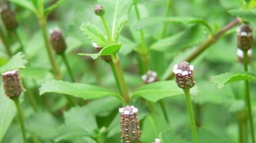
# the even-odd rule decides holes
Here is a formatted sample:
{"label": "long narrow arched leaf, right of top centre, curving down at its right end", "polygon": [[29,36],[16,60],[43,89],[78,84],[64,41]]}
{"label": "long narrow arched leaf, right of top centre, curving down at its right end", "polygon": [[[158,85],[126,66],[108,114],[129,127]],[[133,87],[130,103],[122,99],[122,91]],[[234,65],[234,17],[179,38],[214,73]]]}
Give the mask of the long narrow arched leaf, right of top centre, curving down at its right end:
{"label": "long narrow arched leaf, right of top centre, curving down at its right end", "polygon": [[209,31],[211,32],[211,27],[207,24],[206,21],[200,19],[200,18],[194,18],[194,17],[147,17],[143,18],[140,21],[138,21],[134,28],[137,30],[150,27],[155,24],[162,24],[162,23],[181,23],[181,24],[203,24],[205,25]]}

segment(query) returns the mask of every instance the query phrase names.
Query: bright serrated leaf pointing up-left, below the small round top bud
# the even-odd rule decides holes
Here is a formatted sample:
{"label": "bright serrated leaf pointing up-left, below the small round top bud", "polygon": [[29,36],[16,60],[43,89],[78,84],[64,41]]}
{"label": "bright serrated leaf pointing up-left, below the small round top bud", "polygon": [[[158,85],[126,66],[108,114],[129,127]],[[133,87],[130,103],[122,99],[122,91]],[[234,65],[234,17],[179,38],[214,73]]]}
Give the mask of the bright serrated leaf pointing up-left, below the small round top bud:
{"label": "bright serrated leaf pointing up-left, below the small round top bud", "polygon": [[80,29],[84,32],[83,34],[88,36],[88,39],[90,39],[92,42],[96,42],[97,45],[99,45],[100,47],[105,47],[109,45],[104,33],[95,25],[83,23],[80,26]]}

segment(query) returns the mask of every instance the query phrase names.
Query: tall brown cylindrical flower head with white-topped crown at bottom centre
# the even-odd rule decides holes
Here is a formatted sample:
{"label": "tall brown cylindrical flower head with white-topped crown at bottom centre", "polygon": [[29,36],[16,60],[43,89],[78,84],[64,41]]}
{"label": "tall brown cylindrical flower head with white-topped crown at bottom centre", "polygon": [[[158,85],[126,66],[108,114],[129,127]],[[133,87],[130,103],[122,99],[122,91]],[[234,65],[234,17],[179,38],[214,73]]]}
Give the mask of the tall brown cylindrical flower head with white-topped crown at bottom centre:
{"label": "tall brown cylindrical flower head with white-topped crown at bottom centre", "polygon": [[126,106],[119,108],[121,121],[122,143],[137,143],[140,140],[142,131],[140,130],[137,118],[138,108],[134,106]]}

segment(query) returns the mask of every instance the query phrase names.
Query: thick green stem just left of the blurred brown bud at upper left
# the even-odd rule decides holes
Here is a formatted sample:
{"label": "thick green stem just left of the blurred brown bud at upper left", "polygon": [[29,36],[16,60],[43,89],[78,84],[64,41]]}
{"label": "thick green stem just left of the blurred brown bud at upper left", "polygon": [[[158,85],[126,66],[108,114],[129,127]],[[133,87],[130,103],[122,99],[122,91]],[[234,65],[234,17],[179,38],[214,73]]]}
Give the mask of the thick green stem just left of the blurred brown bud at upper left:
{"label": "thick green stem just left of the blurred brown bud at upper left", "polygon": [[52,69],[53,69],[55,78],[56,79],[61,79],[59,67],[57,66],[57,64],[55,62],[53,50],[52,50],[52,47],[50,45],[50,41],[49,41],[48,36],[47,36],[46,24],[45,23],[46,22],[40,22],[41,31],[42,31],[42,34],[43,34],[43,38],[45,40],[45,46],[46,46],[46,49],[47,49],[47,53],[48,53],[48,56],[49,56],[50,63],[52,64]]}

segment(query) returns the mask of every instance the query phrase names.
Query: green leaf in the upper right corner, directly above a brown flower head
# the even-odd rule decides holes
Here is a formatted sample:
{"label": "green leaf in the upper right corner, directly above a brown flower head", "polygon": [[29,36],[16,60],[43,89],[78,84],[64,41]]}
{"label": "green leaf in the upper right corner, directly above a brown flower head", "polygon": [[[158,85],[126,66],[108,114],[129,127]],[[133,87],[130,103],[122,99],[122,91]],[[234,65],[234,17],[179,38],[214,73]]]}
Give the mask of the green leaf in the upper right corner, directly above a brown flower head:
{"label": "green leaf in the upper right corner, directly above a brown flower head", "polygon": [[243,20],[252,22],[253,25],[256,25],[256,10],[243,10],[243,9],[234,9],[228,11],[231,15],[243,18]]}

